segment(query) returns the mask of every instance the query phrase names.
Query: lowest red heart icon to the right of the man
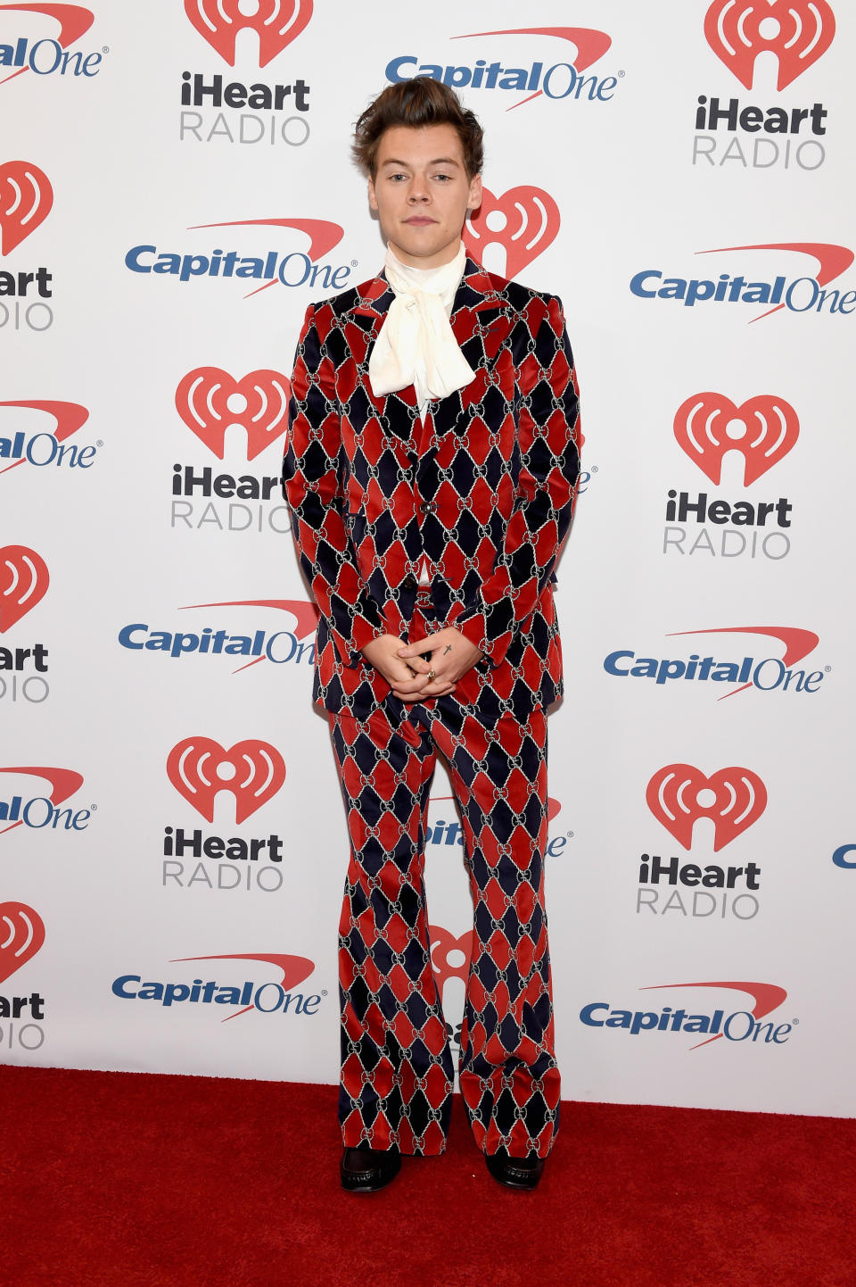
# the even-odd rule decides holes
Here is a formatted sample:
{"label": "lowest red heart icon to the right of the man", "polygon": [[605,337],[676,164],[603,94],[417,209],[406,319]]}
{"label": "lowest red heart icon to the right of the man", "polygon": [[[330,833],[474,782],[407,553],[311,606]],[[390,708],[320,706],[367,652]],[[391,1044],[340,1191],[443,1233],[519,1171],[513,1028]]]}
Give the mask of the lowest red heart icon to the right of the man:
{"label": "lowest red heart icon to the right of the man", "polygon": [[751,768],[720,768],[706,777],[693,764],[666,764],[648,784],[645,801],[658,822],[685,849],[700,817],[713,822],[713,852],[736,839],[763,813],[767,789]]}

